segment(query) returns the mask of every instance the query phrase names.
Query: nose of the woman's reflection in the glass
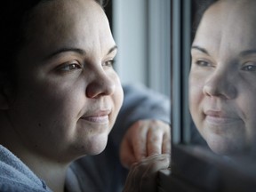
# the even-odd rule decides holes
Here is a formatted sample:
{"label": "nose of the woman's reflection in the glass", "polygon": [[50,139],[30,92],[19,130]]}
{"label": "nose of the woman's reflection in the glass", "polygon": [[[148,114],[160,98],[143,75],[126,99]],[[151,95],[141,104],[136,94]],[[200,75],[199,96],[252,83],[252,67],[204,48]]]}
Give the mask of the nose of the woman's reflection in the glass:
{"label": "nose of the woman's reflection in the glass", "polygon": [[232,75],[227,73],[218,73],[215,71],[204,84],[203,92],[210,97],[220,97],[222,99],[236,98],[236,84]]}

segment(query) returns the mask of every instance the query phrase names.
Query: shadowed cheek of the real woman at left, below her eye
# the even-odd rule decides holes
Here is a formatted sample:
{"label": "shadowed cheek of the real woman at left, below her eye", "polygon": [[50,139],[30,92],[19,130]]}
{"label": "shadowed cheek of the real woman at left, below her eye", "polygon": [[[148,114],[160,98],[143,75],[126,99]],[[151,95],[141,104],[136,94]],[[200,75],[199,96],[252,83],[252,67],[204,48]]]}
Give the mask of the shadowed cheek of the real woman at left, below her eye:
{"label": "shadowed cheek of the real woman at left, below her eye", "polygon": [[54,150],[64,148],[64,144],[76,136],[76,121],[85,102],[84,85],[64,85],[56,82],[29,84],[30,89],[19,92],[12,114],[22,140],[45,154],[54,154]]}

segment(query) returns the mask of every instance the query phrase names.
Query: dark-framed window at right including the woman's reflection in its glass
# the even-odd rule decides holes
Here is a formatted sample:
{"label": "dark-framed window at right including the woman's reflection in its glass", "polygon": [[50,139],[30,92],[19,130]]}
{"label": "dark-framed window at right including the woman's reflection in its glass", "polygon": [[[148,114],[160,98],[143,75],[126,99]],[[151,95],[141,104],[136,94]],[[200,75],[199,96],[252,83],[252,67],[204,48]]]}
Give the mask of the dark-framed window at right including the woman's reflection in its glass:
{"label": "dark-framed window at right including the woman's reflection in its glass", "polygon": [[[229,3],[230,2],[231,1],[229,1]],[[237,2],[239,1],[236,1],[236,4]],[[248,2],[249,1],[247,1],[247,3]],[[251,3],[252,2],[253,1],[251,1]],[[256,140],[255,137],[253,137],[255,125],[252,124],[251,126],[252,130],[249,131],[251,134],[246,132],[244,126],[240,126],[243,124],[243,121],[237,120],[238,115],[233,110],[235,109],[236,111],[236,109],[243,104],[239,103],[238,106],[235,105],[236,108],[233,108],[234,105],[227,104],[235,100],[236,94],[234,94],[234,87],[232,87],[234,82],[232,82],[232,80],[236,79],[237,76],[236,78],[235,76],[231,78],[231,76],[227,74],[227,76],[223,76],[224,68],[218,68],[218,72],[222,73],[217,74],[216,72],[218,76],[215,76],[212,82],[210,81],[210,77],[215,75],[215,73],[212,75],[212,70],[214,71],[217,68],[217,64],[220,64],[212,64],[216,60],[220,61],[219,58],[216,58],[216,55],[218,55],[218,57],[222,56],[222,58],[225,58],[225,61],[227,61],[229,55],[223,54],[222,52],[225,52],[228,48],[234,50],[235,47],[237,50],[237,47],[244,42],[239,41],[239,44],[236,43],[236,46],[230,46],[230,44],[234,44],[237,39],[241,39],[242,37],[236,36],[234,41],[231,41],[230,36],[235,33],[233,27],[236,22],[233,26],[229,23],[227,23],[227,25],[218,25],[221,20],[216,19],[218,18],[218,14],[216,14],[217,11],[214,11],[215,16],[212,16],[214,12],[210,12],[213,17],[213,21],[210,25],[208,22],[211,20],[204,20],[204,36],[197,34],[198,36],[195,37],[197,23],[198,20],[200,20],[201,13],[204,12],[205,7],[212,3],[213,1],[210,0],[172,0],[172,166],[171,172],[169,172],[168,188],[164,191],[188,191],[188,188],[193,188],[192,191],[232,191],[234,189],[237,191],[252,191],[253,188],[255,188],[255,184],[253,184],[256,178],[255,155],[253,155],[255,153],[253,153],[252,150],[252,156],[247,156],[248,154],[245,154],[248,152],[248,148],[244,148],[244,145],[248,145],[248,141],[252,144],[249,148],[253,149],[253,145],[255,145]],[[242,4],[240,5],[242,6]],[[223,13],[220,12],[219,15],[220,14]],[[236,21],[239,21],[243,17],[242,14],[241,17],[237,17]],[[223,20],[227,20],[227,18],[223,18]],[[246,21],[247,20],[244,20],[244,22],[241,23],[243,28],[246,28],[244,24]],[[229,33],[226,33],[225,36],[220,33],[216,35],[214,32],[216,32],[217,27],[222,28],[220,30],[221,33],[223,31],[228,31]],[[246,32],[246,34],[247,33],[248,32]],[[196,44],[194,37],[196,38]],[[214,38],[216,38],[216,41]],[[229,39],[229,47],[226,46],[226,49],[221,49],[220,53],[218,48],[222,47],[224,43],[219,44],[219,46],[216,45],[214,51],[216,52],[217,50],[218,54],[213,55],[209,47],[218,42],[218,40],[221,43],[224,42],[224,38]],[[250,41],[247,40],[247,43],[249,42]],[[192,49],[196,49],[195,55],[192,53],[192,58],[190,54],[191,45]],[[206,50],[203,45],[206,46]],[[209,52],[210,50],[211,52]],[[198,52],[200,52],[200,54]],[[214,60],[212,58],[214,58]],[[229,65],[231,64],[234,64],[234,60],[229,60]],[[249,68],[251,67],[252,66]],[[192,68],[193,76],[191,77]],[[195,68],[196,70],[194,70]],[[229,69],[234,73],[234,67]],[[226,71],[226,73],[229,74],[230,71]],[[239,72],[239,76],[241,76],[241,73],[242,72]],[[202,77],[206,78],[206,80]],[[220,81],[220,77],[222,81]],[[246,78],[247,77],[248,76],[246,76]],[[227,79],[232,86],[225,84]],[[237,81],[235,85],[237,84],[241,84],[241,82]],[[253,92],[253,89],[251,92]],[[213,99],[211,99],[210,96],[212,96]],[[248,100],[246,101],[246,103],[248,103],[247,107],[253,104],[249,104]],[[191,102],[193,102],[192,107]],[[196,125],[194,121],[192,121],[190,112],[194,114],[192,116]],[[195,115],[196,113],[199,115]],[[233,122],[234,116],[237,121],[240,121],[236,122],[238,125]],[[205,120],[208,122],[207,124],[204,124],[205,118],[207,118]],[[241,134],[235,134],[235,129]],[[200,130],[200,133],[197,130]],[[244,142],[244,144],[241,142]],[[237,152],[237,149],[239,149],[239,155],[234,156],[233,152]]]}

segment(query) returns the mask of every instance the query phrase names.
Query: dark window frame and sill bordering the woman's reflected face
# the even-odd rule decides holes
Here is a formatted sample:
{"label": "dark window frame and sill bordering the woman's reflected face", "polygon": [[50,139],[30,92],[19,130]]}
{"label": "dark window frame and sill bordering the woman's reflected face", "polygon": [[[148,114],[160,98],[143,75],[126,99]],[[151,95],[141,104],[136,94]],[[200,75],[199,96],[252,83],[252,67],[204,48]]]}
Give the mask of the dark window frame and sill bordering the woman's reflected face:
{"label": "dark window frame and sill bordering the woman's reflected face", "polygon": [[[188,71],[197,5],[210,0],[172,0],[172,165],[160,172],[160,192],[255,190],[255,166],[231,164],[193,142],[188,112]],[[224,158],[224,159],[223,159]]]}

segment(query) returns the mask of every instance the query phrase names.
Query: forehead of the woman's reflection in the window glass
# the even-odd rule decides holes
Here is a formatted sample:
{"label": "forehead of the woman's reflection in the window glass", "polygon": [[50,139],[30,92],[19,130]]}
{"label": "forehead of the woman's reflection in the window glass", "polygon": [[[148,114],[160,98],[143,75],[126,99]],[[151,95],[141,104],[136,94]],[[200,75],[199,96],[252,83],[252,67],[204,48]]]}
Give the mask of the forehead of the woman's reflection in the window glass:
{"label": "forehead of the woman's reflection in the window glass", "polygon": [[[256,47],[256,1],[220,1],[208,9],[196,31],[194,43],[215,51]],[[238,50],[236,50],[238,51]]]}

